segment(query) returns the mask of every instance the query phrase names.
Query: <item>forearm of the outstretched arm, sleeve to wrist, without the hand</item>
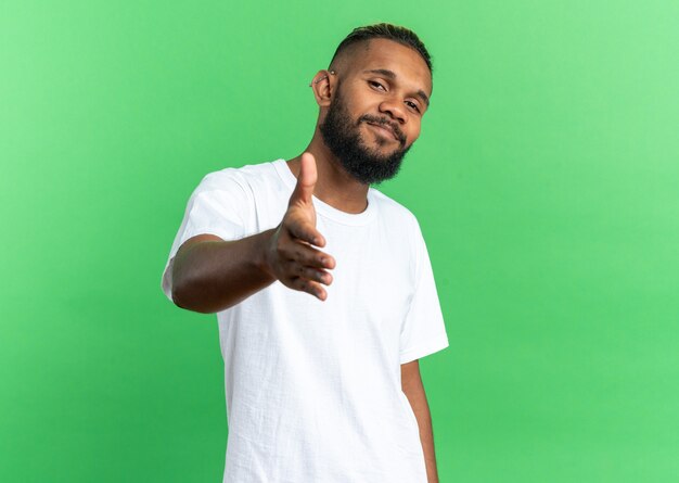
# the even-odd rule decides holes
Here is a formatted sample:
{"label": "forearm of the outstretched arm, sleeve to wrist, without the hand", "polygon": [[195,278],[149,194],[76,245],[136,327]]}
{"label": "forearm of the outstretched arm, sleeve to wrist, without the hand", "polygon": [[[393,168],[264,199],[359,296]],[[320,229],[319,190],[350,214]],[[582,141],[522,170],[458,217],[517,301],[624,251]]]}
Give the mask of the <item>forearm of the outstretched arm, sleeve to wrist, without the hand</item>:
{"label": "forearm of the outstretched arm, sleeve to wrist, without the hand", "polygon": [[180,250],[172,266],[172,300],[185,309],[213,314],[271,284],[265,251],[274,229],[235,241],[202,241]]}

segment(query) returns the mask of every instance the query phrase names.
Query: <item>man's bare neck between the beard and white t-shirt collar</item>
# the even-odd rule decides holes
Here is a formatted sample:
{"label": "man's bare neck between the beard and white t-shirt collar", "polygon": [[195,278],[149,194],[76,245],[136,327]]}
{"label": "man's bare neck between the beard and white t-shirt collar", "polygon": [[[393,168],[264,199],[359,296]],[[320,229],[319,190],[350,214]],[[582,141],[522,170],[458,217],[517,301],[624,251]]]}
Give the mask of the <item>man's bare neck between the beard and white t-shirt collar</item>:
{"label": "man's bare neck between the beard and white t-shirt collar", "polygon": [[[328,149],[321,132],[316,132],[309,145],[303,151],[313,154],[318,181],[313,188],[313,195],[323,203],[342,212],[358,214],[368,207],[368,185],[353,178],[343,167],[337,157]],[[287,161],[290,170],[295,177],[299,176],[299,161],[302,154]]]}

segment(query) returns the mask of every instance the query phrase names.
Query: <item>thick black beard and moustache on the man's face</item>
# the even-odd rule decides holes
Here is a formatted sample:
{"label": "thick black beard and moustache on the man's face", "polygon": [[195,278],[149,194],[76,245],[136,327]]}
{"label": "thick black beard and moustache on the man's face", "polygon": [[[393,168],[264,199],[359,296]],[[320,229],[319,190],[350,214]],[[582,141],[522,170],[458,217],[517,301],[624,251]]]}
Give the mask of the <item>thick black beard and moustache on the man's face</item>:
{"label": "thick black beard and moustache on the man's face", "polygon": [[[384,120],[380,117],[363,115],[354,122],[337,89],[319,129],[325,145],[357,181],[373,185],[395,177],[403,156],[412,144],[405,148],[403,136],[398,128],[395,128],[399,148],[390,154],[382,154],[377,149],[366,144],[360,132],[361,123],[380,125],[384,124]],[[390,123],[387,124],[390,125]],[[382,147],[394,141],[377,138],[376,142]]]}

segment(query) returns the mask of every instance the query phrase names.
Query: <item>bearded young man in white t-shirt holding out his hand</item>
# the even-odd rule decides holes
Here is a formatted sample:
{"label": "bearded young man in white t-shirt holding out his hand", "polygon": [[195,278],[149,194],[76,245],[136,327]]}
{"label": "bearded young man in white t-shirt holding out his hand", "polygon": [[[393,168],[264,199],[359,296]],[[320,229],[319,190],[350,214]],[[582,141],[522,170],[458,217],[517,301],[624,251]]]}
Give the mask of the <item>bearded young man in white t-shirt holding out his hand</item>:
{"label": "bearded young man in white t-shirt holding out his hand", "polygon": [[309,145],[205,176],[163,276],[217,314],[223,481],[436,482],[418,359],[448,338],[415,217],[370,187],[420,135],[430,55],[406,28],[356,28],[310,87]]}

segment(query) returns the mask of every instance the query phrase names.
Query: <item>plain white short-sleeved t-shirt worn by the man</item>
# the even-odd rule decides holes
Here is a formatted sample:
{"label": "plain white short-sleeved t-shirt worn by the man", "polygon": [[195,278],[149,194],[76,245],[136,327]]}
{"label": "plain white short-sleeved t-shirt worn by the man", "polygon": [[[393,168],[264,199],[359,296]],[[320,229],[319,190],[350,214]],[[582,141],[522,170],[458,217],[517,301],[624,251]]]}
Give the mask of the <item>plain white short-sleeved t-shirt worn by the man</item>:
{"label": "plain white short-sleeved t-shirt worn by the man", "polygon": [[[236,240],[277,227],[296,178],[284,160],[226,168],[191,195],[163,275],[191,237]],[[448,346],[415,217],[370,188],[348,214],[316,196],[328,298],[276,281],[217,314],[229,435],[223,482],[425,483],[400,365]]]}

